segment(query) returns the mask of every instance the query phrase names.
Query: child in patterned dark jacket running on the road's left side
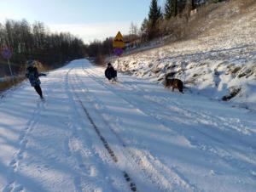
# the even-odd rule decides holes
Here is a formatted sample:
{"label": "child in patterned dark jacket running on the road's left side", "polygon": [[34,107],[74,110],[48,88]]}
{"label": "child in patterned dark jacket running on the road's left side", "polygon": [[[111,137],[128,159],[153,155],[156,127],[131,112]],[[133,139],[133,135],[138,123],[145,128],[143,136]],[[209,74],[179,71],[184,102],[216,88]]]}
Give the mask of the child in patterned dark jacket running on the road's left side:
{"label": "child in patterned dark jacket running on the road's left side", "polygon": [[41,99],[44,99],[42,89],[40,87],[40,80],[39,76],[46,76],[44,73],[38,73],[38,68],[35,66],[35,60],[27,61],[27,68],[26,68],[26,78],[29,79],[29,82],[33,88],[35,88],[36,92],[40,96]]}

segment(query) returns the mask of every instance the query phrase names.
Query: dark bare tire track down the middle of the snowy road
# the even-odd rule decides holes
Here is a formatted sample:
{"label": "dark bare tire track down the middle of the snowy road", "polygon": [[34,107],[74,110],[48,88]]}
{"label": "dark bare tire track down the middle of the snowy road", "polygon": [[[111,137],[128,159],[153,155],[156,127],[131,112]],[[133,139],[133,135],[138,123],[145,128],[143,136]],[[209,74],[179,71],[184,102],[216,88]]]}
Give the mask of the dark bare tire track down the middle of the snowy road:
{"label": "dark bare tire track down the middle of the snowy road", "polygon": [[[73,69],[71,69],[70,71],[72,71]],[[70,72],[69,71],[69,72]],[[67,76],[69,75],[69,72],[67,73]],[[91,126],[95,129],[96,134],[98,135],[98,137],[101,139],[103,146],[105,147],[105,149],[108,151],[108,154],[110,155],[110,157],[112,158],[112,160],[115,163],[118,163],[118,157],[114,154],[113,150],[111,149],[110,145],[108,144],[108,141],[106,138],[104,138],[102,136],[102,133],[100,132],[99,128],[96,126],[96,123],[93,121],[93,119],[90,116],[90,113],[88,112],[88,110],[85,108],[83,102],[81,101],[81,99],[79,98],[78,93],[75,92],[74,88],[72,87],[73,93],[75,94],[76,98],[79,101],[79,104],[81,105],[82,109],[84,110],[85,115],[88,117]],[[129,184],[129,187],[131,189],[131,191],[138,191],[137,190],[137,185],[134,183],[134,181],[131,179],[131,176],[125,172],[122,171],[123,173],[123,177],[125,178],[125,181]]]}

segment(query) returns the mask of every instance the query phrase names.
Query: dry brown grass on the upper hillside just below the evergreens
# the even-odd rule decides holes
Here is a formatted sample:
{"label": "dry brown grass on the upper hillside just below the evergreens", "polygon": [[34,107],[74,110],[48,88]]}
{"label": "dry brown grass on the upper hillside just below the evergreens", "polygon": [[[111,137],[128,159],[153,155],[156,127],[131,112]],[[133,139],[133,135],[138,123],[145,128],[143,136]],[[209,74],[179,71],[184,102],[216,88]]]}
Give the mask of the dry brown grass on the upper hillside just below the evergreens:
{"label": "dry brown grass on the upper hillside just below the evergreens", "polygon": [[167,43],[207,35],[212,29],[229,24],[231,18],[246,14],[253,6],[256,6],[255,0],[230,0],[202,5],[189,19],[188,13],[184,11],[171,20],[163,21],[160,30],[170,36]]}

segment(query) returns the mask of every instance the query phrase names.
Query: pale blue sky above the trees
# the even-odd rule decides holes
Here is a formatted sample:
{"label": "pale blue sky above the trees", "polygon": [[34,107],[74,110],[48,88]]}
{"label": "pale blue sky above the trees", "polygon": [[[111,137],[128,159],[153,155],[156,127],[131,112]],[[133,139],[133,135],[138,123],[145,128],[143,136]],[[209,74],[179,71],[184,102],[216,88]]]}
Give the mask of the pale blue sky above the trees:
{"label": "pale blue sky above the trees", "polygon": [[[151,0],[0,0],[0,22],[42,21],[50,31],[70,31],[90,42],[127,33],[131,21],[141,25]],[[164,0],[159,0],[163,5]]]}

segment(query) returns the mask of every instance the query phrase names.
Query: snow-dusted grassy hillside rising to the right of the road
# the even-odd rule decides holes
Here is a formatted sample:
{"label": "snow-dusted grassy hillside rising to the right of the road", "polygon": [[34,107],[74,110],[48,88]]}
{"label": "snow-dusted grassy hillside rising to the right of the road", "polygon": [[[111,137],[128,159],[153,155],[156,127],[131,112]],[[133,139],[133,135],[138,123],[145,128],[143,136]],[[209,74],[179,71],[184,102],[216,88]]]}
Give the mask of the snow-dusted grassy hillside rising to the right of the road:
{"label": "snow-dusted grassy hillside rising to the right of the road", "polygon": [[256,109],[256,3],[223,4],[207,14],[199,37],[126,55],[119,70],[160,83],[173,72],[192,93]]}

